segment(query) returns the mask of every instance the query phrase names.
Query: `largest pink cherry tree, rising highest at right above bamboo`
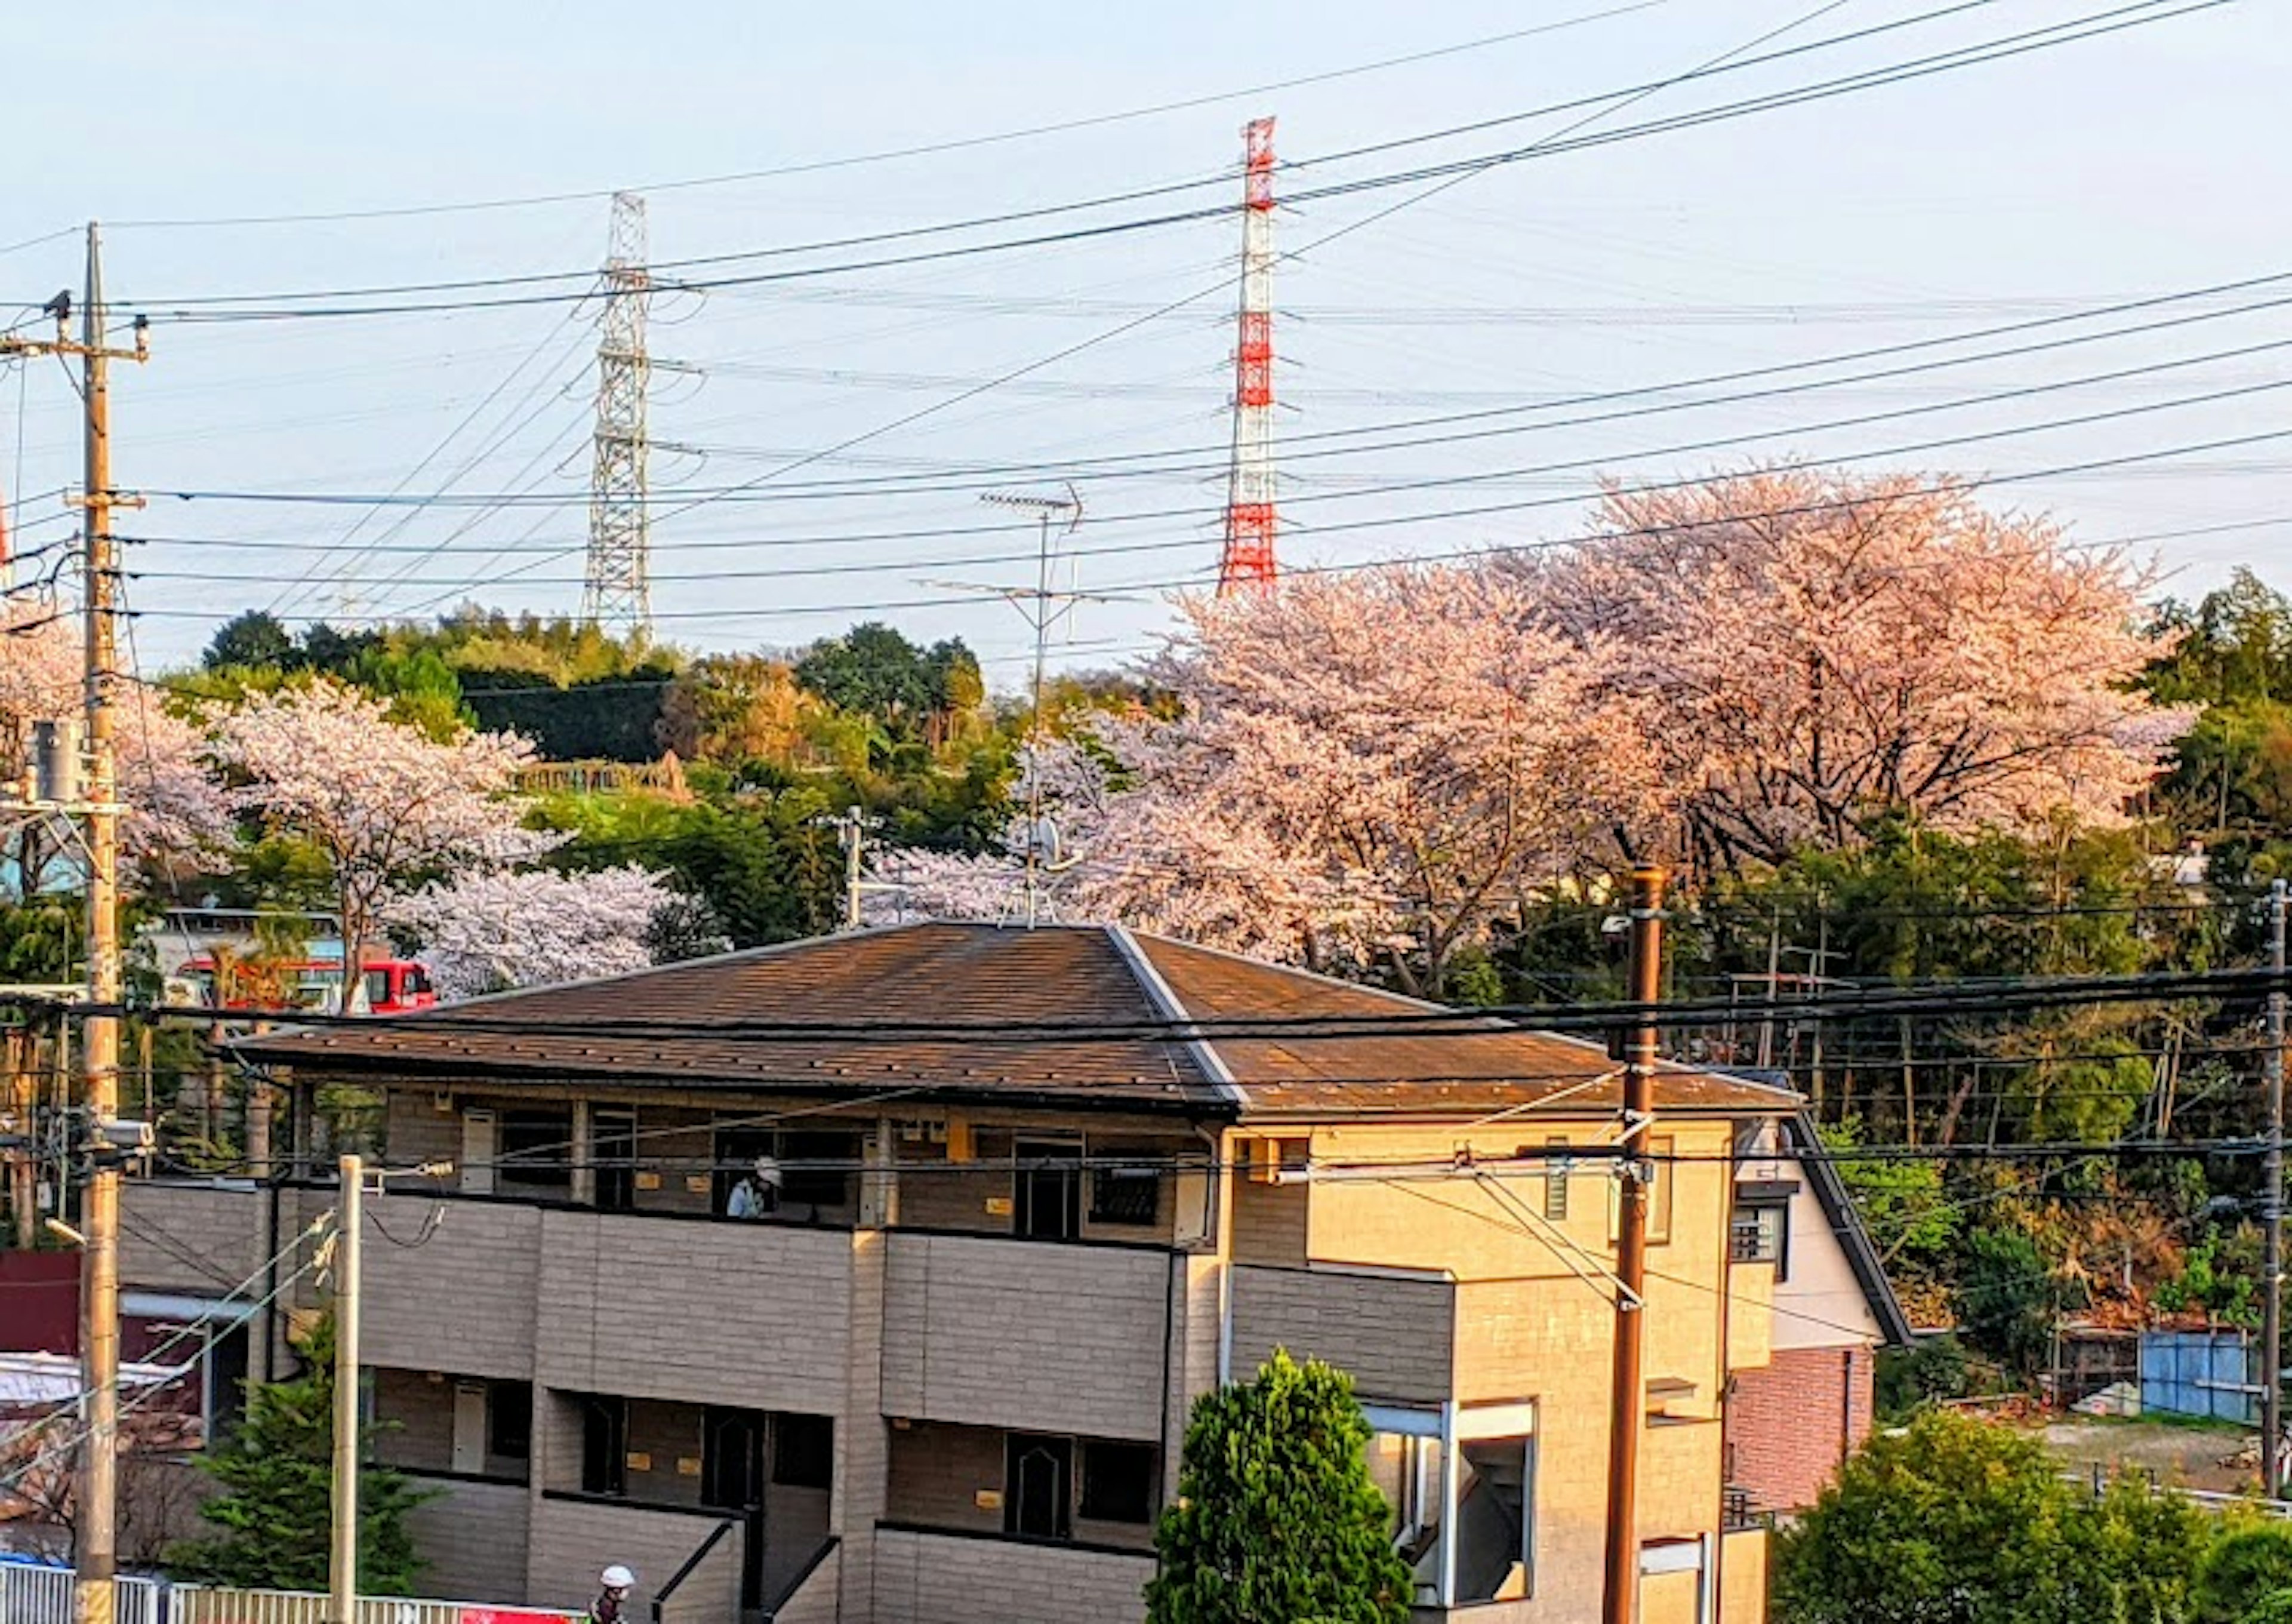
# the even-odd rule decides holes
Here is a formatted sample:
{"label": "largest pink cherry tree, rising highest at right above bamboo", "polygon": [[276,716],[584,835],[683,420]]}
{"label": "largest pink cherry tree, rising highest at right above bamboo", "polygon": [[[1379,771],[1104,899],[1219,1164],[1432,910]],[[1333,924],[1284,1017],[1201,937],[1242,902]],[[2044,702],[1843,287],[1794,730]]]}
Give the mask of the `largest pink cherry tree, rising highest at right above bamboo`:
{"label": "largest pink cherry tree, rising highest at right above bamboo", "polygon": [[1593,711],[1648,723],[1680,787],[1650,849],[1705,867],[1854,844],[1882,814],[2035,830],[2122,821],[2187,716],[2145,578],[2058,525],[1912,475],[1763,470],[1614,491],[1575,548],[1504,567],[1529,626],[1579,640]]}

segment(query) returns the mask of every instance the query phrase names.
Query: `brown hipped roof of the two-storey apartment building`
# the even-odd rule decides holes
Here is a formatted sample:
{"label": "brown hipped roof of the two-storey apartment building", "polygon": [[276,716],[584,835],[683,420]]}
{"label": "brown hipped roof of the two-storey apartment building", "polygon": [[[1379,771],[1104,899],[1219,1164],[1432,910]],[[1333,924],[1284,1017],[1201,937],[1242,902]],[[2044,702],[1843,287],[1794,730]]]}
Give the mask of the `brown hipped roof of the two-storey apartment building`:
{"label": "brown hipped roof of the two-storey apartment building", "polygon": [[[1559,1094],[1586,1112],[1620,1101],[1620,1071],[1598,1044],[1100,924],[853,931],[429,1014],[286,1028],[236,1051],[367,1076],[894,1087],[1293,1119],[1469,1115]],[[1781,1115],[1797,1096],[1664,1067],[1657,1103]]]}

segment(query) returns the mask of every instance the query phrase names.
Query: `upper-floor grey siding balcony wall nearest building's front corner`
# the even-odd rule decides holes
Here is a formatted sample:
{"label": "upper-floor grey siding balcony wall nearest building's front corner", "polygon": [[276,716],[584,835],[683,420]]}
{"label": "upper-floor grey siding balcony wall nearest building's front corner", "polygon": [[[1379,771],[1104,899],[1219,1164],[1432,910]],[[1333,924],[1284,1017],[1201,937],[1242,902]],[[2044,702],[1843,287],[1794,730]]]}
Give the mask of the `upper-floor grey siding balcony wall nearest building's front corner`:
{"label": "upper-floor grey siding balcony wall nearest building's front corner", "polygon": [[1153,1440],[1169,1255],[892,1234],[882,1413]]}

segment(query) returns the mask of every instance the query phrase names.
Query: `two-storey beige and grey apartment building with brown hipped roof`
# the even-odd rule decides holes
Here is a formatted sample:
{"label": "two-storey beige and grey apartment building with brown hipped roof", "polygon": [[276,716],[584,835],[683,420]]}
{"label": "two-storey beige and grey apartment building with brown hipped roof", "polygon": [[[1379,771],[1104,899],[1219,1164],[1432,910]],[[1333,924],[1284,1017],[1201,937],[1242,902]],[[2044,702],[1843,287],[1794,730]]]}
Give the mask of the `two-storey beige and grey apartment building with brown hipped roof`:
{"label": "two-storey beige and grey apartment building with brown hipped roof", "polygon": [[[364,1135],[364,1358],[383,1452],[442,1489],[431,1594],[580,1603],[626,1562],[672,1619],[1137,1619],[1190,1404],[1288,1346],[1355,1379],[1421,1619],[1595,1615],[1598,1044],[1116,927],[915,924],[241,1057],[293,1161],[133,1184],[121,1273],[259,1271],[332,1202],[316,1129]],[[1664,1067],[1657,1106],[1641,1617],[1758,1624],[1737,1149],[1795,1096]]]}

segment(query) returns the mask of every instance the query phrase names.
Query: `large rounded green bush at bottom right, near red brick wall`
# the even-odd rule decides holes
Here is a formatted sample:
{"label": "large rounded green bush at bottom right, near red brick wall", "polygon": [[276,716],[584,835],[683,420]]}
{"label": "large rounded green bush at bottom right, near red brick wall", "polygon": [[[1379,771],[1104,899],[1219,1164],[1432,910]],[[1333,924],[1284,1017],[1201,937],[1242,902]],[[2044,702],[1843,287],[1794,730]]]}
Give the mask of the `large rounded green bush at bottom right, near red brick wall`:
{"label": "large rounded green bush at bottom right, near red brick wall", "polygon": [[[2033,1438],[1928,1411],[1774,1539],[1776,1624],[2184,1624],[2214,1530],[2175,1493],[2099,1498]],[[2198,1615],[2209,1617],[2209,1615]]]}

